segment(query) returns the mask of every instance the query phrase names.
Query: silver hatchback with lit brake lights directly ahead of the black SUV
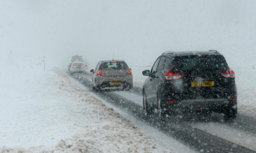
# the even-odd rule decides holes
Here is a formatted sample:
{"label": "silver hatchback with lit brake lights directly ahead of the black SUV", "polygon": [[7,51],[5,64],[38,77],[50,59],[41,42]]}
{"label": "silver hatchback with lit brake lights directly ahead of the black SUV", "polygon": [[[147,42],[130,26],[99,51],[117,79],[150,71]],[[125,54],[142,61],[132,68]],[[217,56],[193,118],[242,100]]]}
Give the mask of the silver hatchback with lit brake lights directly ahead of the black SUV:
{"label": "silver hatchback with lit brake lights directly ahead of the black SUV", "polygon": [[124,60],[102,60],[92,72],[92,83],[98,91],[101,89],[130,90],[132,71]]}

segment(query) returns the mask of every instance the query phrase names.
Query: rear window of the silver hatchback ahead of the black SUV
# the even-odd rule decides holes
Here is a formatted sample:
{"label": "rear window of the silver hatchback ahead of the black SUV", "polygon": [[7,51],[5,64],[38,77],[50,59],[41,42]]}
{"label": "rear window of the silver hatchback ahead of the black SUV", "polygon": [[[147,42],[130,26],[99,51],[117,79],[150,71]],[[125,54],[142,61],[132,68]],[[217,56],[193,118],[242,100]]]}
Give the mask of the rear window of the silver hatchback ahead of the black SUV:
{"label": "rear window of the silver hatchback ahead of the black SUV", "polygon": [[121,70],[128,69],[128,66],[125,62],[104,62],[99,66],[99,70]]}

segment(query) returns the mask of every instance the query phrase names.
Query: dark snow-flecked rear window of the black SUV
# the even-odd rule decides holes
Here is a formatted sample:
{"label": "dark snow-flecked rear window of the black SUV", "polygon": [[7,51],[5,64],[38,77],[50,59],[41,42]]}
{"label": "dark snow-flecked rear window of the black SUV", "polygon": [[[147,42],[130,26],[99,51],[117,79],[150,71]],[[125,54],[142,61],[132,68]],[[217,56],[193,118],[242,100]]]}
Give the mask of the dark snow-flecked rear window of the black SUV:
{"label": "dark snow-flecked rear window of the black SUV", "polygon": [[187,55],[175,57],[172,67],[177,70],[225,70],[228,68],[222,55]]}

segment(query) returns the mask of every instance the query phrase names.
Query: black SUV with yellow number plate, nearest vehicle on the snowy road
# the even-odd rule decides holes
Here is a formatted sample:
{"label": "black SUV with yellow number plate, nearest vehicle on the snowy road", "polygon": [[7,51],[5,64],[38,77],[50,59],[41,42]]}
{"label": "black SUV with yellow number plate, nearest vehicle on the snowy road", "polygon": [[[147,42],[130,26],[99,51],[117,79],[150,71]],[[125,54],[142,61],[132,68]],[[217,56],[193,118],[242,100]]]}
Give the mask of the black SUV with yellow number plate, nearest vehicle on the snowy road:
{"label": "black SUV with yellow number plate, nearest vehicle on the snowy road", "polygon": [[143,86],[143,108],[150,115],[157,108],[161,120],[182,112],[237,114],[235,73],[216,50],[164,52],[155,61]]}

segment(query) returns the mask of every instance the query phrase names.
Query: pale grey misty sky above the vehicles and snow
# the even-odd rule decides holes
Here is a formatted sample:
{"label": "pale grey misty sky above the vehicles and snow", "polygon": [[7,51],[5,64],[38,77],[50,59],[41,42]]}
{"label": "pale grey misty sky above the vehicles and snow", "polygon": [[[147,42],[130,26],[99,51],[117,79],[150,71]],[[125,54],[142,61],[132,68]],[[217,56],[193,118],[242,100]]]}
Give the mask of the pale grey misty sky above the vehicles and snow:
{"label": "pale grey misty sky above the vehicles and snow", "polygon": [[92,69],[114,54],[132,68],[167,50],[216,49],[231,68],[252,68],[255,8],[255,0],[1,0],[0,63],[45,56],[46,70],[67,69],[83,55]]}

